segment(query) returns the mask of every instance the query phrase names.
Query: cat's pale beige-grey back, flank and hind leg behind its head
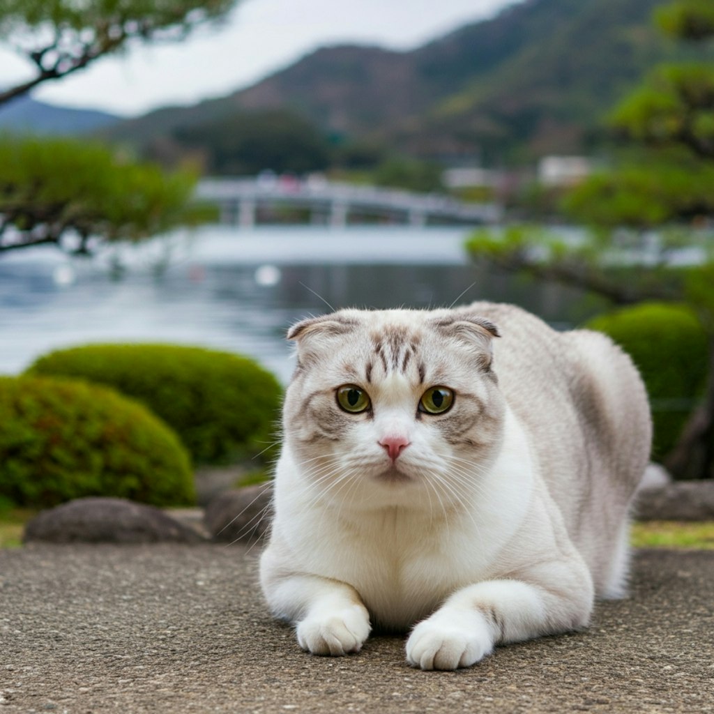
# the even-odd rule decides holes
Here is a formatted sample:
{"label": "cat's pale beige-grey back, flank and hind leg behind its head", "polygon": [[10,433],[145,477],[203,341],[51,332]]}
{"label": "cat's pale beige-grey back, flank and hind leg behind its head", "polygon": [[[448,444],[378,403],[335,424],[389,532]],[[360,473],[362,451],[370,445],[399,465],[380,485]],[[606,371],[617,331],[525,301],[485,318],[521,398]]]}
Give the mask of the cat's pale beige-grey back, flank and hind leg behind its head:
{"label": "cat's pale beige-grey back, flank and hind leg behind its head", "polygon": [[596,590],[622,594],[628,510],[652,436],[637,369],[602,333],[555,331],[512,305],[466,309],[501,331],[494,344],[499,386],[531,436],[541,476]]}

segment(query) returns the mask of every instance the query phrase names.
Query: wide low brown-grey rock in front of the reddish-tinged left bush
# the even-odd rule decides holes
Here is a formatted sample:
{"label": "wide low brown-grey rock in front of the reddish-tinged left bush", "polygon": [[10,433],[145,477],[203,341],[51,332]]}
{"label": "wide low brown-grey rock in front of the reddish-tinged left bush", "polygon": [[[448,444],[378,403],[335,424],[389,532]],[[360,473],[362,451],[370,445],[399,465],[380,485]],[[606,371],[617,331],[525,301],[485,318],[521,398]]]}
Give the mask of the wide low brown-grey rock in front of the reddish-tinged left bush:
{"label": "wide low brown-grey rock in front of the reddish-tinged left bush", "polygon": [[78,498],[42,511],[24,533],[26,543],[198,543],[203,538],[154,506],[124,498]]}

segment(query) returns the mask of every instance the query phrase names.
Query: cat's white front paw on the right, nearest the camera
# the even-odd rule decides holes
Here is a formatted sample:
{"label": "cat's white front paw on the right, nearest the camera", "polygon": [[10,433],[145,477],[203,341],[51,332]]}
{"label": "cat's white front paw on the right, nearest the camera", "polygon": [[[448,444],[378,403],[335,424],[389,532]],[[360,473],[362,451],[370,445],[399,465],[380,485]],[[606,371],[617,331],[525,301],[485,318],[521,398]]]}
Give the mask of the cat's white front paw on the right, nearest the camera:
{"label": "cat's white front paw on the right, nearest the camera", "polygon": [[434,613],[416,625],[406,658],[423,670],[471,667],[493,652],[493,635],[481,613]]}

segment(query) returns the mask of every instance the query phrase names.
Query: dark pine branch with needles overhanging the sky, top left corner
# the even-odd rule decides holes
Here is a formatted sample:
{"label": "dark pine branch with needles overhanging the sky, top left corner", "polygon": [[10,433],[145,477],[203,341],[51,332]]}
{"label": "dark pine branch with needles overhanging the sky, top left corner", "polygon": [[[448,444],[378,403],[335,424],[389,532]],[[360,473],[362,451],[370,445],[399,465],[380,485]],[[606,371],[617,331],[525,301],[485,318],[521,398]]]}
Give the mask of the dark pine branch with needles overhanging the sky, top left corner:
{"label": "dark pine branch with needles overhanging the sky, top left corner", "polygon": [[222,19],[236,0],[0,0],[0,41],[34,77],[0,92],[0,104],[59,79],[131,41],[177,40]]}

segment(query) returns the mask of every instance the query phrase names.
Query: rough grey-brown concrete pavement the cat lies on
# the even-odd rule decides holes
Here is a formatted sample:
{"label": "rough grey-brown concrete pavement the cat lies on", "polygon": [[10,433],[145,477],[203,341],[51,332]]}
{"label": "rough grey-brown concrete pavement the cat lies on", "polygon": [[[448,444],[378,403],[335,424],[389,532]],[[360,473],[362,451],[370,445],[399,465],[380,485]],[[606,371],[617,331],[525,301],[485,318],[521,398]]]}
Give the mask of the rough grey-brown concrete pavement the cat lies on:
{"label": "rough grey-brown concrete pavement the cat lies on", "polygon": [[413,670],[403,638],[301,652],[266,613],[257,549],[0,551],[0,714],[714,712],[714,552],[641,551],[583,633]]}

